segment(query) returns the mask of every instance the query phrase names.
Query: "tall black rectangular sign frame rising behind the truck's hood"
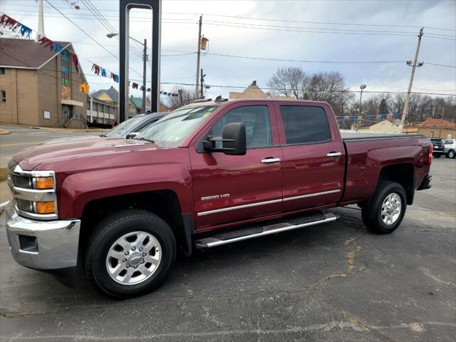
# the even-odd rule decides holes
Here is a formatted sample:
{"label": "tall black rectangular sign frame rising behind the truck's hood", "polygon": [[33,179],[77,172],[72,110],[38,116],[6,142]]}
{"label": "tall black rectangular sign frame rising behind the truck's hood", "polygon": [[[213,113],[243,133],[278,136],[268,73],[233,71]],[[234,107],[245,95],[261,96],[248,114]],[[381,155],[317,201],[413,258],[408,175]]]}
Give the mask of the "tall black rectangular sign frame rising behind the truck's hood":
{"label": "tall black rectangular sign frame rising behind the truck's hood", "polygon": [[160,38],[162,27],[162,0],[120,0],[120,53],[119,53],[119,123],[125,121],[128,114],[128,37],[130,31],[130,9],[152,10],[152,56],[150,110],[160,108]]}

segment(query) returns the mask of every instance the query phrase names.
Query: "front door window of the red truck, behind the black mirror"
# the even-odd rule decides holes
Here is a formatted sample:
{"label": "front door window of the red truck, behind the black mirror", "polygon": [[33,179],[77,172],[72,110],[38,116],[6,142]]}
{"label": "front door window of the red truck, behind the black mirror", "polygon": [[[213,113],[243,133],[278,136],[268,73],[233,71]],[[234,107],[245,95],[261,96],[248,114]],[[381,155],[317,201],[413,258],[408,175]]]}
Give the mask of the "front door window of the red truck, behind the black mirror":
{"label": "front door window of the red truck, behind the black mirror", "polygon": [[[208,135],[221,137],[227,123],[244,123],[247,135],[247,148],[271,146],[271,125],[266,105],[247,105],[229,111],[212,126]],[[222,142],[217,141],[216,147],[221,148]]]}

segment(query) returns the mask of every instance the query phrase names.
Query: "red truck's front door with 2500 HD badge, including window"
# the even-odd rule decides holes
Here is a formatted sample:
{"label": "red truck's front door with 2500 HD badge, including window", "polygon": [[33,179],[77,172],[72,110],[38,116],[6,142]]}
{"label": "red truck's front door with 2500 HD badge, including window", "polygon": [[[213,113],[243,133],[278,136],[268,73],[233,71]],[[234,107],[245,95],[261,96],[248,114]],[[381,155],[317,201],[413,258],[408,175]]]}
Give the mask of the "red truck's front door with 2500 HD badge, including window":
{"label": "red truck's front door with 2500 HD badge, including window", "polygon": [[[281,212],[283,158],[272,110],[262,101],[233,104],[209,123],[196,148],[190,148],[197,230]],[[202,150],[202,140],[222,136],[227,123],[246,126],[246,155]]]}

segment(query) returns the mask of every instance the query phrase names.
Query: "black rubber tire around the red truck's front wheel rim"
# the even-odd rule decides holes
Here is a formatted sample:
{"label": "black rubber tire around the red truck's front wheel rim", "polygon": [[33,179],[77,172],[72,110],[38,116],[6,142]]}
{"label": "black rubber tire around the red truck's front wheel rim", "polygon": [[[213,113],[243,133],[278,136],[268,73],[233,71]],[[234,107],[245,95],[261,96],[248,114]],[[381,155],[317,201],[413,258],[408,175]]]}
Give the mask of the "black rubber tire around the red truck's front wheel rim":
{"label": "black rubber tire around the red truck's front wheel rim", "polygon": [[[120,284],[108,273],[106,258],[113,244],[130,232],[145,232],[155,237],[160,243],[161,259],[153,273],[144,281],[139,284]],[[113,299],[127,299],[157,288],[170,271],[175,257],[175,236],[167,223],[151,212],[128,209],[115,212],[96,225],[86,248],[84,269],[90,283],[101,294]],[[130,271],[133,268],[135,267]]]}

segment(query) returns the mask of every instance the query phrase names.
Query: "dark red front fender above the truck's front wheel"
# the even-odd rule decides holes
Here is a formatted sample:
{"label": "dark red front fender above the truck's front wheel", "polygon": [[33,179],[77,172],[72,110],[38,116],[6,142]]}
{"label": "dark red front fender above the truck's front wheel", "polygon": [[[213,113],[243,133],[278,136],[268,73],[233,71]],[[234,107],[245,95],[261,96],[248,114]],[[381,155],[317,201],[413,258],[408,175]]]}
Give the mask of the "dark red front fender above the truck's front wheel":
{"label": "dark red front fender above the truck's front wheel", "polygon": [[182,212],[193,212],[189,170],[179,162],[167,162],[68,175],[58,193],[58,216],[61,219],[82,217],[84,207],[94,199],[154,190],[175,192]]}

